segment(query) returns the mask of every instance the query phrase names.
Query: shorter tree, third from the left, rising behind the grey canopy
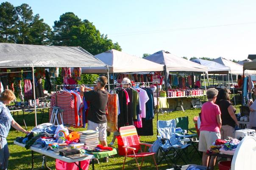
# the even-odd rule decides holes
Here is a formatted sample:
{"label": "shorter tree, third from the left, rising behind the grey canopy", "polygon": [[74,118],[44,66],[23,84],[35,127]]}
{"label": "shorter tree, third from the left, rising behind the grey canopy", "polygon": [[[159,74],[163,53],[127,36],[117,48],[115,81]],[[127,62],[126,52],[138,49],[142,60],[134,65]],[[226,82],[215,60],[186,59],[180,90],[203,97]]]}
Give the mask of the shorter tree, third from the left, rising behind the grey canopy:
{"label": "shorter tree, third from the left, rising behind the grey canopy", "polygon": [[31,44],[35,45],[49,45],[51,35],[51,28],[44,23],[44,19],[40,19],[39,14],[33,17],[33,22],[30,29]]}

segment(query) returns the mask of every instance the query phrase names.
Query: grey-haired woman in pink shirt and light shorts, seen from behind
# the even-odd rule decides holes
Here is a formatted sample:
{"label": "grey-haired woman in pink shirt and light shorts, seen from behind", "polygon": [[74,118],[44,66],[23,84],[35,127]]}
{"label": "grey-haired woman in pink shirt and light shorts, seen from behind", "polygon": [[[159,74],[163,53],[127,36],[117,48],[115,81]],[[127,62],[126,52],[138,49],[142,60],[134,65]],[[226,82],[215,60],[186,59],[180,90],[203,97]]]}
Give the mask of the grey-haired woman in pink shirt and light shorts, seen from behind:
{"label": "grey-haired woman in pink shirt and light shorts, seen from behind", "polygon": [[221,113],[216,101],[218,90],[211,88],[206,91],[208,102],[204,103],[201,110],[201,125],[198,150],[203,152],[202,164],[208,165],[210,161],[210,169],[214,169],[216,157],[206,155],[207,149],[210,148],[216,139],[220,139]]}

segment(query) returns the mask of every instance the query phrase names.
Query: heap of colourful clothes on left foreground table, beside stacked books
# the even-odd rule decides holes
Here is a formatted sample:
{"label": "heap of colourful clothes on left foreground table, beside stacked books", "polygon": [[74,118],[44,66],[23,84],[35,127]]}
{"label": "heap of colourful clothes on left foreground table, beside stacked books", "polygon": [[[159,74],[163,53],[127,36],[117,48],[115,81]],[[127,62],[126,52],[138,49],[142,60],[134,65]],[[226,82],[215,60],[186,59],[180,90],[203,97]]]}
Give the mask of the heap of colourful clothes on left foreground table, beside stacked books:
{"label": "heap of colourful clothes on left foreground table, beside stacked books", "polygon": [[111,147],[97,145],[95,148],[86,147],[86,143],[80,143],[80,132],[73,132],[64,127],[63,124],[54,125],[50,123],[40,124],[31,130],[25,137],[18,137],[16,141],[25,144],[25,148],[30,146],[60,151],[64,148],[76,148],[81,153],[112,151]]}

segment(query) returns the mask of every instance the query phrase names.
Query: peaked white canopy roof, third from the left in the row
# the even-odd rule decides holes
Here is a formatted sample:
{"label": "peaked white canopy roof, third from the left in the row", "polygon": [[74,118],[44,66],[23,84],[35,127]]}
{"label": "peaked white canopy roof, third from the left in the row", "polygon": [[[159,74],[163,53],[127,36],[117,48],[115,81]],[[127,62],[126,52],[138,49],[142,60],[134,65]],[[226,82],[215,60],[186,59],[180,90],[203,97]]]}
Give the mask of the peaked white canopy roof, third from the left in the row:
{"label": "peaked white canopy roof, third from the left in the row", "polygon": [[207,67],[175,56],[168,51],[158,51],[145,59],[166,65],[166,70],[172,72],[207,72]]}

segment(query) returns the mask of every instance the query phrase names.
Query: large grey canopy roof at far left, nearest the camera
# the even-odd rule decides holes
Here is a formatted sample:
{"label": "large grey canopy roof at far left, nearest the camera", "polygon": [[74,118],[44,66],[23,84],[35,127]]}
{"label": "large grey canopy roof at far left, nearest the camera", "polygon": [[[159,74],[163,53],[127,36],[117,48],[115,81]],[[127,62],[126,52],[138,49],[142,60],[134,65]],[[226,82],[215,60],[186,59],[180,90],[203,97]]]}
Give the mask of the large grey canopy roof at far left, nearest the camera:
{"label": "large grey canopy roof at far left, nearest the camera", "polygon": [[81,47],[0,43],[0,67],[105,67]]}

